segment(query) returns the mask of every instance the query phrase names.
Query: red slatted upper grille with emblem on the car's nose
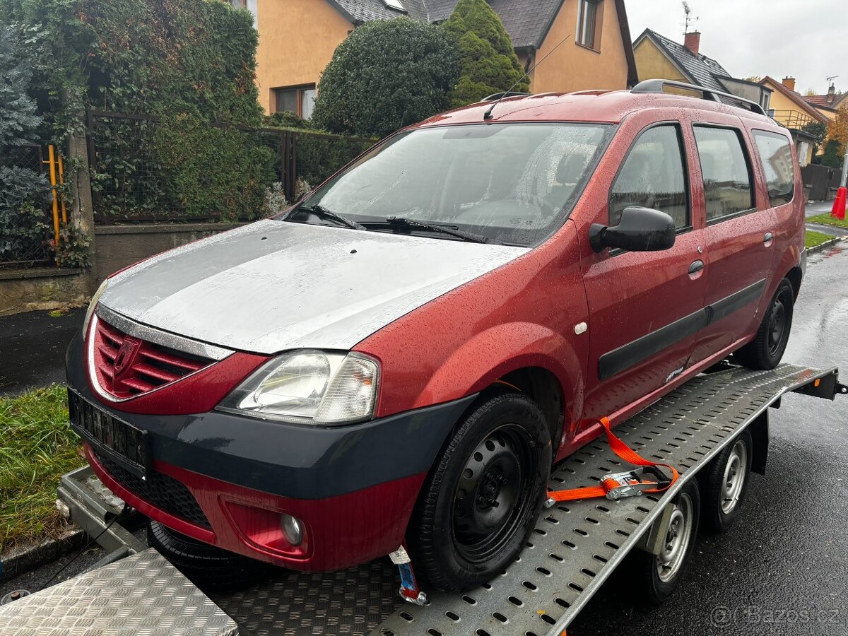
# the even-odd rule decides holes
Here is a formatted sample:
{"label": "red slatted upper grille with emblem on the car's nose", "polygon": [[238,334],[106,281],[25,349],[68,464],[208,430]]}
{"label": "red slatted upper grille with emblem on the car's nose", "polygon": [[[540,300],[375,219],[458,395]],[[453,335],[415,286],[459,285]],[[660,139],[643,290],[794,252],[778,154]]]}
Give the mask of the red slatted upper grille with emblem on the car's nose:
{"label": "red slatted upper grille with emblem on the car's nose", "polygon": [[215,360],[133,338],[98,319],[93,366],[100,386],[116,398],[132,398],[200,371]]}

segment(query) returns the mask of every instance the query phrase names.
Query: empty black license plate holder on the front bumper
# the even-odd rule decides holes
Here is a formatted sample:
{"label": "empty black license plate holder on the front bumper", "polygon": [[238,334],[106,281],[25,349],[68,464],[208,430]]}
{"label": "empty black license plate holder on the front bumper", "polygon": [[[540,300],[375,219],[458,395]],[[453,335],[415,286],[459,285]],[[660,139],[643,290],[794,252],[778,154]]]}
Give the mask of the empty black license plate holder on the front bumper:
{"label": "empty black license plate holder on the front bumper", "polygon": [[121,420],[68,388],[70,427],[98,454],[133,475],[147,477],[150,467],[148,432]]}

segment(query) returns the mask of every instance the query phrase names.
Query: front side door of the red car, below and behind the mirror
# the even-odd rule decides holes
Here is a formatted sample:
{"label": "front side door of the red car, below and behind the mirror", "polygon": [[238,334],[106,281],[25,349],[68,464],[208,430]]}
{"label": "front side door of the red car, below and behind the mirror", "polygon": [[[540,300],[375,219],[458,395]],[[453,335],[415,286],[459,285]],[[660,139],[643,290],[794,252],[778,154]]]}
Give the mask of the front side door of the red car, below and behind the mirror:
{"label": "front side door of the red car, below and behind the mirror", "polygon": [[[663,115],[667,120],[656,121]],[[581,248],[590,353],[577,435],[594,418],[614,414],[678,377],[704,323],[706,277],[693,268],[705,258],[702,220],[693,215],[689,183],[687,148],[691,152],[693,142],[688,122],[681,124],[680,116],[679,111],[651,110],[622,123],[618,145],[614,142],[606,158],[624,159],[605,184],[603,207],[594,214],[580,209],[572,215],[580,219],[583,243],[590,223],[614,226],[628,205],[666,212],[677,227],[674,247],[661,252],[605,249],[594,254]],[[587,203],[591,209],[592,202]]]}

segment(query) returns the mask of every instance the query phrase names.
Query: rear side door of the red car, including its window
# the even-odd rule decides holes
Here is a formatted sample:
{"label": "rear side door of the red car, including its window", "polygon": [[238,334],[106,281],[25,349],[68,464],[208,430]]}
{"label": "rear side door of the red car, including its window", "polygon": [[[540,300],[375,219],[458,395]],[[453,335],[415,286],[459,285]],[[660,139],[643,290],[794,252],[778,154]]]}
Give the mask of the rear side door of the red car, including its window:
{"label": "rear side door of the red car, including its window", "polygon": [[750,335],[772,270],[775,218],[757,192],[755,156],[741,120],[702,114],[692,127],[693,178],[703,187],[706,305],[710,322],[695,343],[698,362]]}

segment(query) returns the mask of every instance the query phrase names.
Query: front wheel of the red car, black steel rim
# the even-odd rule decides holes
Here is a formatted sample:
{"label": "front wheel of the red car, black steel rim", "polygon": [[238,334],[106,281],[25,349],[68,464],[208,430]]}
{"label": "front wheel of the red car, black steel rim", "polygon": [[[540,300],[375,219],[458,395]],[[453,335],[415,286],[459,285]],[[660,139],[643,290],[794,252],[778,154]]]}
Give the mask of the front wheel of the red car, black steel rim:
{"label": "front wheel of the red car, black steel rim", "polygon": [[550,465],[550,430],[532,399],[483,399],[460,421],[421,488],[407,533],[417,572],[447,592],[504,572],[533,531]]}

